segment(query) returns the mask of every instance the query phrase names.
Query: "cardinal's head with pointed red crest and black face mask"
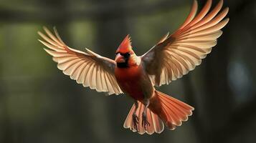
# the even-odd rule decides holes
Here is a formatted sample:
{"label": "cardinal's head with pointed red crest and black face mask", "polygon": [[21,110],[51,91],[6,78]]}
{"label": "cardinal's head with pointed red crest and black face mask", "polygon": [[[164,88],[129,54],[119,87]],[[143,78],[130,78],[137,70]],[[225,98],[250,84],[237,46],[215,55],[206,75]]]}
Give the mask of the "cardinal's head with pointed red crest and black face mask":
{"label": "cardinal's head with pointed red crest and black face mask", "polygon": [[129,35],[125,36],[122,43],[115,51],[115,62],[117,63],[118,67],[127,67],[128,60],[130,59],[131,55],[134,54],[134,51],[131,46],[131,38]]}

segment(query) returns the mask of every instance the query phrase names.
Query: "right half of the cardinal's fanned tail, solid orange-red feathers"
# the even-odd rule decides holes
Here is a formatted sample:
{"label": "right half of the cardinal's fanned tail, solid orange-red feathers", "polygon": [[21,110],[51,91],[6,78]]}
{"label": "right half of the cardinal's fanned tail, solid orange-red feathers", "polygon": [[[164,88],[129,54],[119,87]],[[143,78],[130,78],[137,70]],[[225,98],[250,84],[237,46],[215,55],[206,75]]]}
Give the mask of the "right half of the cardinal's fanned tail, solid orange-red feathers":
{"label": "right half of the cardinal's fanned tail, solid orange-red feathers", "polygon": [[156,91],[156,95],[160,100],[162,110],[158,116],[171,130],[174,130],[176,126],[181,126],[182,122],[188,120],[194,110],[194,107],[162,92]]}

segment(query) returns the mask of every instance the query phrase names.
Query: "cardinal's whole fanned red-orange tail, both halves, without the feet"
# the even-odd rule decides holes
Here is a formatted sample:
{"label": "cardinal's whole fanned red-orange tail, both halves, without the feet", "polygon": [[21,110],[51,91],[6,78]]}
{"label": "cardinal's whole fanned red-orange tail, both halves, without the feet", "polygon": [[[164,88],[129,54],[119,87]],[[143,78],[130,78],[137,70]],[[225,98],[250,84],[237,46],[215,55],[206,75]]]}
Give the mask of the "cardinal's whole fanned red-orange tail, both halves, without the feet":
{"label": "cardinal's whole fanned red-orange tail, both halves, without the feet", "polygon": [[155,91],[154,96],[150,99],[149,107],[146,110],[150,126],[144,129],[141,118],[144,107],[144,104],[138,102],[138,109],[136,111],[136,115],[138,116],[138,131],[133,126],[133,112],[136,109],[135,104],[131,107],[123,127],[131,129],[133,132],[138,132],[138,134],[144,134],[145,132],[147,134],[153,134],[154,132],[160,134],[164,129],[163,124],[165,124],[168,129],[174,130],[176,126],[181,126],[182,122],[187,121],[194,110],[194,107],[174,97]]}

